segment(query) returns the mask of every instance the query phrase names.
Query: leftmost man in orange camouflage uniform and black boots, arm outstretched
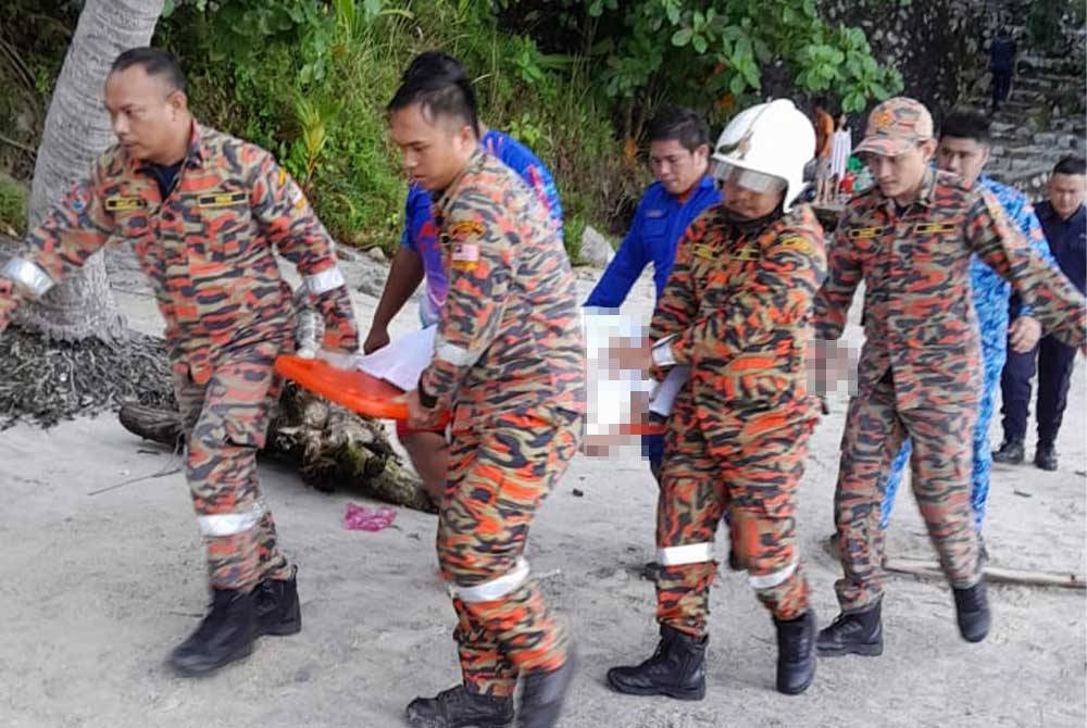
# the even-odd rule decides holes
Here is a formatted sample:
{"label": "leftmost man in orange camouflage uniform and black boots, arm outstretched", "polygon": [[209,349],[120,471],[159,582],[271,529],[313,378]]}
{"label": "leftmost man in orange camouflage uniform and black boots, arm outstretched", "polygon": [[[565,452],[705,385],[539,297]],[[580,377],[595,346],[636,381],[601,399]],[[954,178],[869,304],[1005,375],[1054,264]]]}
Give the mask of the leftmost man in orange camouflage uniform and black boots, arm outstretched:
{"label": "leftmost man in orange camouflage uniform and black boots, arm outstretched", "polygon": [[260,635],[301,629],[296,568],[257,482],[273,362],[293,350],[298,266],[325,321],[324,346],[359,346],[333,241],[289,175],[259,147],[193,121],[173,55],[125,51],[105,81],[117,145],[95,162],[0,272],[0,328],[108,241],[130,243],[166,322],[186,428],[186,476],[208,553],[211,611],[171,654],[183,676],[250,654]]}

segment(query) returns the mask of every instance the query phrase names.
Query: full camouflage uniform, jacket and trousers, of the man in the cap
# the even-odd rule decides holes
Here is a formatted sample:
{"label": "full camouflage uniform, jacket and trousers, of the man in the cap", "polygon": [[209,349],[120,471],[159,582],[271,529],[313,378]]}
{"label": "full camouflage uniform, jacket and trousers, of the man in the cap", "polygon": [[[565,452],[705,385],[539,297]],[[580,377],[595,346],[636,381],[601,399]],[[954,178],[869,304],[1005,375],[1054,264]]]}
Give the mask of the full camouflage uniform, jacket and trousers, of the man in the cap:
{"label": "full camouflage uniform, jacket and trousers, of the man in the cap", "polygon": [[842,438],[835,493],[844,613],[883,594],[880,484],[903,440],[913,442],[913,489],[957,589],[980,579],[971,494],[971,434],[982,391],[971,255],[1008,279],[1044,328],[1084,342],[1084,298],[1010,224],[996,198],[929,170],[904,210],[874,188],[842,212],[830,274],[815,303],[816,336],[836,339],[863,280],[866,342]]}

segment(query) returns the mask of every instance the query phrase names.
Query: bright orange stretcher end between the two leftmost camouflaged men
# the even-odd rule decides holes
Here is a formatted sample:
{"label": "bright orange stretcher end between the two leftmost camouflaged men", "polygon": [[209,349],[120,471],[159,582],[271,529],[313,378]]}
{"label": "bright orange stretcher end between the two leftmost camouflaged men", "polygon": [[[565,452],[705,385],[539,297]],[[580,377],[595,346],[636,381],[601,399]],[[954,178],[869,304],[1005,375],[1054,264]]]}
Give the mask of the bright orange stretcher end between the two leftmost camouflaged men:
{"label": "bright orange stretcher end between the two leftmost camouflaged men", "polygon": [[[399,401],[403,390],[365,372],[338,369],[320,359],[285,355],[275,360],[275,371],[299,386],[375,419],[408,422],[408,404]],[[449,413],[439,423],[449,422]]]}

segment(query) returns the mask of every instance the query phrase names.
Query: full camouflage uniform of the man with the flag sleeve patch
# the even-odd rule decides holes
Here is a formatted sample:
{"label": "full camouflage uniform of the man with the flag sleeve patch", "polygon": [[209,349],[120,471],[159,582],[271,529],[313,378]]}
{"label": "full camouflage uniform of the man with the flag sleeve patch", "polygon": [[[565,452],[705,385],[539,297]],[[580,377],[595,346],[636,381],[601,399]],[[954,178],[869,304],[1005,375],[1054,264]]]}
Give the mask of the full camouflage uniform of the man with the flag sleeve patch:
{"label": "full camouflage uniform of the man with the flag sleeve patch", "polygon": [[485,151],[435,204],[449,272],[420,397],[451,409],[438,558],[465,687],[508,696],[566,660],[565,631],[522,557],[536,509],[577,450],[585,346],[575,279],[547,211]]}

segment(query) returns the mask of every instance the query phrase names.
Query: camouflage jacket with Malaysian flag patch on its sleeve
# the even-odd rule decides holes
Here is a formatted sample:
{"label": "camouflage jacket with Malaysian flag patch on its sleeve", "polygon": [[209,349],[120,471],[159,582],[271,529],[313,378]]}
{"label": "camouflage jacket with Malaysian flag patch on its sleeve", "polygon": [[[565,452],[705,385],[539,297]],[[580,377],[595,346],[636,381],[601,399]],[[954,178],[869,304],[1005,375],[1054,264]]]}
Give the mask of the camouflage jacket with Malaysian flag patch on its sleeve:
{"label": "camouflage jacket with Malaysian flag patch on its sleeve", "polygon": [[585,412],[576,281],[547,210],[485,151],[434,205],[449,296],[420,389],[471,424],[509,412]]}

